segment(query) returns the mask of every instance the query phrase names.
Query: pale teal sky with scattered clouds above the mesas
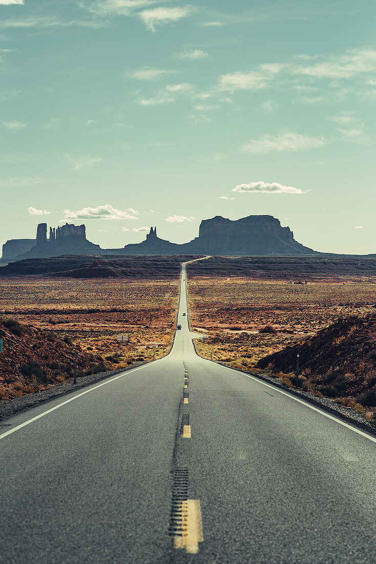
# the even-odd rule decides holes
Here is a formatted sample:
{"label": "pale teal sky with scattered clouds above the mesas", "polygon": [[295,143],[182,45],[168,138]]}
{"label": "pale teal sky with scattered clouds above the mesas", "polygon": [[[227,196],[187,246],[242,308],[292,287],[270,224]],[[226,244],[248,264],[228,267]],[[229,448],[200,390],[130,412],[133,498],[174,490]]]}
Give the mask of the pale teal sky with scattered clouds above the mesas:
{"label": "pale teal sky with scattered clouds above the mesas", "polygon": [[[376,253],[376,4],[0,0],[0,243],[271,214]],[[47,214],[44,213],[47,212]],[[166,221],[168,220],[168,221]]]}

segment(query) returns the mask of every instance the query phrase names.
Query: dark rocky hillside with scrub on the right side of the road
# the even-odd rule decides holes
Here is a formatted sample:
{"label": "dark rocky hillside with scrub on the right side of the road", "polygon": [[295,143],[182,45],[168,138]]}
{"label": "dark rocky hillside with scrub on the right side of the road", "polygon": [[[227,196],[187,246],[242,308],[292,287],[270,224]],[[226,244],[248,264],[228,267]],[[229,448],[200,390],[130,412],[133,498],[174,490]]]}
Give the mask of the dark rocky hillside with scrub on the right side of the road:
{"label": "dark rocky hillside with scrub on the right side of the road", "polygon": [[339,319],[313,337],[259,360],[256,368],[294,373],[302,385],[349,407],[376,413],[376,314]]}

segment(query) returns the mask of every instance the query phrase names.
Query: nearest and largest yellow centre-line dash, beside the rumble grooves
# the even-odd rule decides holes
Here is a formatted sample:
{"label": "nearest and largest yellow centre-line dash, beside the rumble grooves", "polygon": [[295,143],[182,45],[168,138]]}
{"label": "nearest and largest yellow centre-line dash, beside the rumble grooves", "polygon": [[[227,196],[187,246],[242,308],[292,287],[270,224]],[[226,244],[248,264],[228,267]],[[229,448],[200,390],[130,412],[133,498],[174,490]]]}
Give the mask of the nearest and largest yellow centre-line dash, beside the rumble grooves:
{"label": "nearest and largest yellow centre-line dash, beside the rumble grooves", "polygon": [[185,548],[188,554],[197,554],[198,543],[203,540],[200,500],[182,501],[182,536],[174,537],[174,548]]}

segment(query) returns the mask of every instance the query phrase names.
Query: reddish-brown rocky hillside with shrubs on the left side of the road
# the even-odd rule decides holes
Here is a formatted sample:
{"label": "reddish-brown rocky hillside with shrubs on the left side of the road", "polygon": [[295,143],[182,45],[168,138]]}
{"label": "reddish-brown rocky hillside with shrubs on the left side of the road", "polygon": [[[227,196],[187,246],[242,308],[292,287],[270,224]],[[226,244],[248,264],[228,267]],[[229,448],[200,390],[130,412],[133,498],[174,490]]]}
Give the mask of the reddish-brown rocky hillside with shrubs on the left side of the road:
{"label": "reddish-brown rocky hillside with shrubs on the left side of the road", "polygon": [[112,367],[74,346],[68,337],[39,331],[13,319],[0,320],[0,400],[33,394],[73,376],[77,351],[78,376],[103,372]]}

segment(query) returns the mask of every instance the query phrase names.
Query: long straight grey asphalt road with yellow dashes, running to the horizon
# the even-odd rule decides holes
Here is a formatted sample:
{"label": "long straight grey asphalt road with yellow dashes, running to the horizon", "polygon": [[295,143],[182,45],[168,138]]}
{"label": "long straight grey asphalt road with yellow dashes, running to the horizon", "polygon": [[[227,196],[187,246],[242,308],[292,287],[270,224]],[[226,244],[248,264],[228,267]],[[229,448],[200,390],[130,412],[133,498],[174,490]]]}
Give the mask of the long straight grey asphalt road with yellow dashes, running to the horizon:
{"label": "long straight grey asphalt road with yellow dashes, running to the horizon", "polygon": [[375,439],[199,358],[182,279],[169,356],[0,425],[0,562],[374,563]]}

